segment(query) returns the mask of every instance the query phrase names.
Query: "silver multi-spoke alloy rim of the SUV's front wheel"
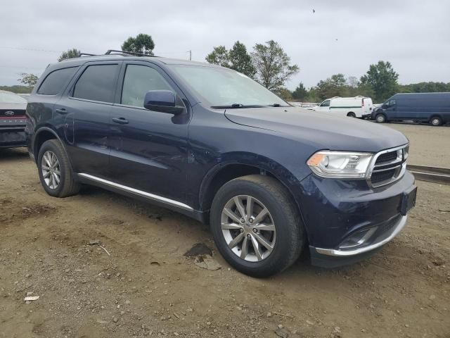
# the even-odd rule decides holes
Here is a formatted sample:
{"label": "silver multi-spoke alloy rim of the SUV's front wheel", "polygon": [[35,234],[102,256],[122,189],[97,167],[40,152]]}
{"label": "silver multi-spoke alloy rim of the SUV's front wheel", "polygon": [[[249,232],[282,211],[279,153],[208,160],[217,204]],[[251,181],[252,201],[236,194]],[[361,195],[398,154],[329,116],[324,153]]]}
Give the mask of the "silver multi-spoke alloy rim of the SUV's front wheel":
{"label": "silver multi-spoke alloy rim of the SUV's front wheel", "polygon": [[221,230],[231,251],[245,261],[262,261],[274,251],[274,220],[255,197],[238,195],[226,202],[221,213]]}

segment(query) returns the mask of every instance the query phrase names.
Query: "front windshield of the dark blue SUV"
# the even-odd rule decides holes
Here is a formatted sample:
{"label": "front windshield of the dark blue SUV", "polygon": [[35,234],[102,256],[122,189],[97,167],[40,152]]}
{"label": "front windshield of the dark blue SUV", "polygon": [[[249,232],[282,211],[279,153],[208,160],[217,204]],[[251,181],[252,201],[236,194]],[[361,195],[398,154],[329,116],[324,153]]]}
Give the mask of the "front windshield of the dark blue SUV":
{"label": "front windshield of the dark blue SUV", "polygon": [[170,68],[212,107],[289,106],[261,84],[231,69],[200,65]]}

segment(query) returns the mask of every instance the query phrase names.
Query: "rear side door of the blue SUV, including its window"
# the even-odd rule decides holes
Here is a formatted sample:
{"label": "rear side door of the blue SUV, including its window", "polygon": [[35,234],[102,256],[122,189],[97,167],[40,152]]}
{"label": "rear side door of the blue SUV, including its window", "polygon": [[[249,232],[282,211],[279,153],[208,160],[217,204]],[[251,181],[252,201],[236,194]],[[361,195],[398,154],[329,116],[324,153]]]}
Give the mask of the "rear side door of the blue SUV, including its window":
{"label": "rear side door of the blue SUV, including its window", "polygon": [[55,105],[75,172],[108,177],[110,113],[121,61],[86,63]]}

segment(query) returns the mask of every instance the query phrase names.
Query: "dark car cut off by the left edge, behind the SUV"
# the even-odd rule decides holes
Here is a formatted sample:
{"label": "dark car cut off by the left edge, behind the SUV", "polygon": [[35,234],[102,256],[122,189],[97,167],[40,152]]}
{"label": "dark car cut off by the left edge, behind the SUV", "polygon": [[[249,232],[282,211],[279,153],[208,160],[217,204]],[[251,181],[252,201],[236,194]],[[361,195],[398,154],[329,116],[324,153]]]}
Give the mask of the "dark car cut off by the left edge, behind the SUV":
{"label": "dark car cut off by the left edge, behind the SUV", "polygon": [[13,92],[0,90],[0,148],[26,146],[25,108],[27,100]]}

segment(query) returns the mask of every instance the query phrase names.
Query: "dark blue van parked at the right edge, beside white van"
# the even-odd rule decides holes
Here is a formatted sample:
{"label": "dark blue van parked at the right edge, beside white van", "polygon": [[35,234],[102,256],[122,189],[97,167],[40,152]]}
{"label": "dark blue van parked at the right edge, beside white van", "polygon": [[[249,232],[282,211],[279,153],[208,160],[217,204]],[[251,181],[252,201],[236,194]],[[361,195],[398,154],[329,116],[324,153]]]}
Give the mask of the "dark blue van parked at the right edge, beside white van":
{"label": "dark blue van parked at the right edge, beside white van", "polygon": [[378,123],[413,120],[431,125],[450,122],[450,93],[395,94],[375,108],[371,118]]}

